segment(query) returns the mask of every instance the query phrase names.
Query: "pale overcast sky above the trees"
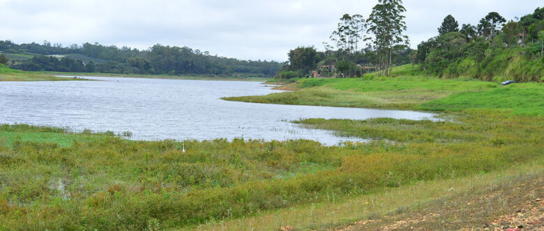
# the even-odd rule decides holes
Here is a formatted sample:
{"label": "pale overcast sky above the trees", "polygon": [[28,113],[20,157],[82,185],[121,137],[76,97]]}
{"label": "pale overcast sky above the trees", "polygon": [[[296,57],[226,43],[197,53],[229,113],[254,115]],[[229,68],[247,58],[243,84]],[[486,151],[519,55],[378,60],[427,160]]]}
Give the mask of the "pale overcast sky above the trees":
{"label": "pale overcast sky above the trees", "polygon": [[[239,59],[287,61],[290,49],[315,46],[336,29],[345,13],[368,17],[377,0],[139,1],[0,0],[0,40],[43,40],[63,46],[102,45],[148,49],[161,44],[190,47]],[[540,3],[540,4],[539,4]],[[539,6],[540,5],[540,6]],[[437,35],[446,15],[478,24],[496,11],[507,20],[533,13],[535,0],[405,0],[412,48]]]}

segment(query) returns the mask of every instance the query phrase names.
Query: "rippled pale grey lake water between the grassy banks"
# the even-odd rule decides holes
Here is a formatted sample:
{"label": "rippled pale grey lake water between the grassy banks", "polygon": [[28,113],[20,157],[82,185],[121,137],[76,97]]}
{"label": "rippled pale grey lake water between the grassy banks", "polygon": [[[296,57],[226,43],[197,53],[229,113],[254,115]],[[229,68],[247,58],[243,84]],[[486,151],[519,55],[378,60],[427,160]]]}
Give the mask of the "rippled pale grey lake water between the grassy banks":
{"label": "rippled pale grey lake water between the grassy banks", "polygon": [[0,123],[70,127],[76,131],[133,132],[141,140],[252,138],[312,139],[335,145],[345,138],[290,123],[299,118],[419,120],[414,111],[228,102],[225,96],[275,92],[257,82],[100,78],[102,81],[0,82]]}

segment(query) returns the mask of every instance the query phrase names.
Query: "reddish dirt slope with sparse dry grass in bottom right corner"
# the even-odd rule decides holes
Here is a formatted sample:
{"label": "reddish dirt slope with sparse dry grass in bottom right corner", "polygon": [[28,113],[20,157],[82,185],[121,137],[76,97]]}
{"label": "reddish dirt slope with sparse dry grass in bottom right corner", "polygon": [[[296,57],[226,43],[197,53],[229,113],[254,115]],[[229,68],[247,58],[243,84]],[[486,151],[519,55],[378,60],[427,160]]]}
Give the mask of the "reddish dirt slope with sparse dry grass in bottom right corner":
{"label": "reddish dirt slope with sparse dry grass in bottom right corner", "polygon": [[339,230],[544,230],[544,173],[439,198]]}

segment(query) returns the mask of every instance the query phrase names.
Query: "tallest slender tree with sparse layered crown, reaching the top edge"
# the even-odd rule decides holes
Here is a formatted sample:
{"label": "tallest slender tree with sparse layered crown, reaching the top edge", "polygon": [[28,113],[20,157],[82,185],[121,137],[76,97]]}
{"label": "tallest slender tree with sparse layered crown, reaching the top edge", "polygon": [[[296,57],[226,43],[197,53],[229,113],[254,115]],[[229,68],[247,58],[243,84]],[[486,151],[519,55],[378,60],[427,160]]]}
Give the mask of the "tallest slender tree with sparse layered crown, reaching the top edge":
{"label": "tallest slender tree with sparse layered crown, reaching the top edge", "polygon": [[373,45],[379,57],[379,75],[391,75],[393,47],[408,44],[408,36],[402,35],[406,31],[402,15],[405,11],[402,0],[379,0],[368,17],[368,32],[374,35]]}

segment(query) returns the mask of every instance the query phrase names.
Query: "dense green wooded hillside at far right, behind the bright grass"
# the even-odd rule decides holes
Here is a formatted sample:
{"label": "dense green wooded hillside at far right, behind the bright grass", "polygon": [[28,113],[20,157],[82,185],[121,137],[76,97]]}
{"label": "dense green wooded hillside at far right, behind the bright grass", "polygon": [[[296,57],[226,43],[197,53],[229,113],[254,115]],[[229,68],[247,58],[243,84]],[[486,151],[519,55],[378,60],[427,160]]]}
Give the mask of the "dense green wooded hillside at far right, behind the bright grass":
{"label": "dense green wooded hillside at far right, behind the bright grass", "polygon": [[447,15],[438,35],[421,42],[411,59],[423,72],[440,77],[542,81],[543,35],[544,8],[509,21],[490,12],[476,25],[459,26]]}

